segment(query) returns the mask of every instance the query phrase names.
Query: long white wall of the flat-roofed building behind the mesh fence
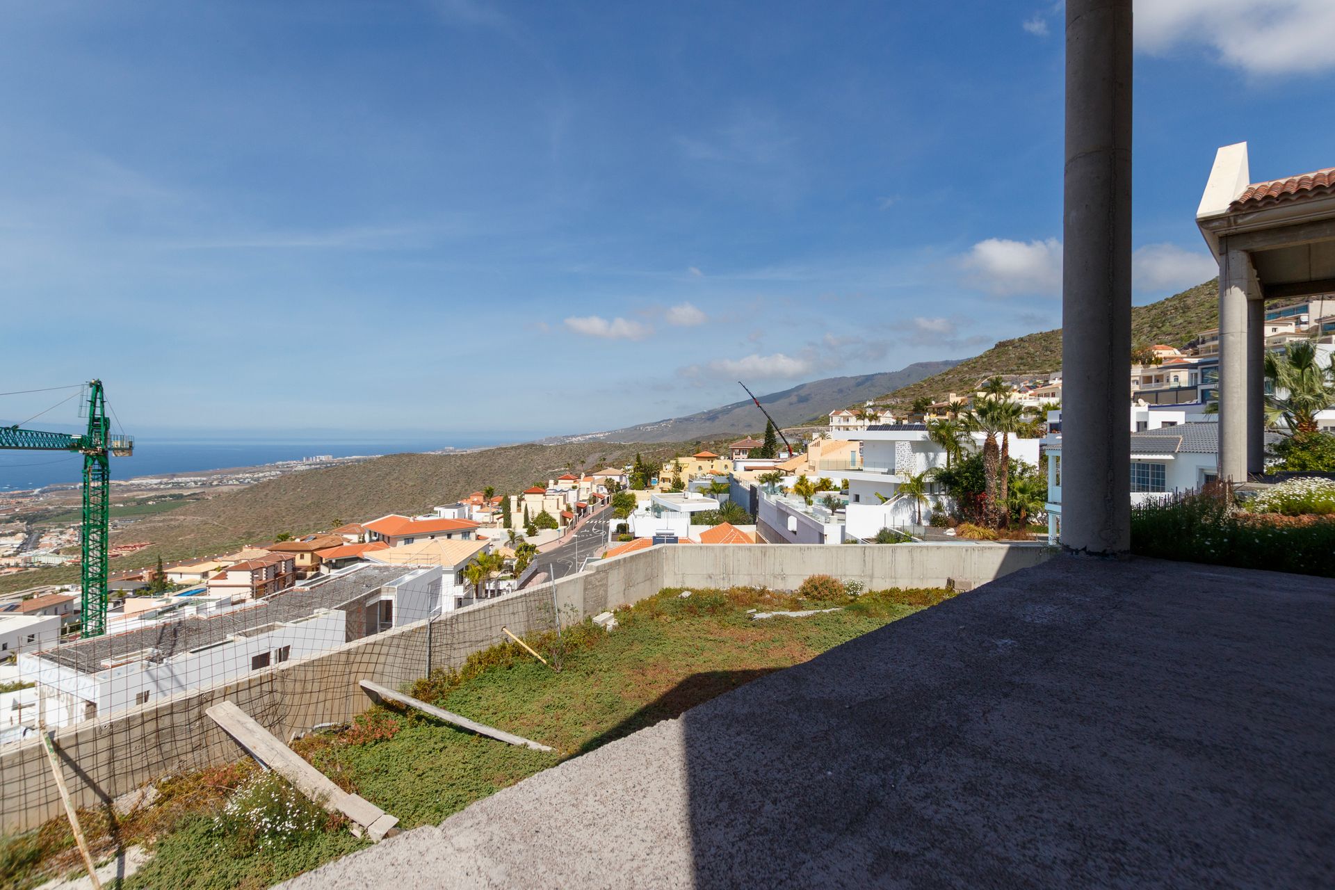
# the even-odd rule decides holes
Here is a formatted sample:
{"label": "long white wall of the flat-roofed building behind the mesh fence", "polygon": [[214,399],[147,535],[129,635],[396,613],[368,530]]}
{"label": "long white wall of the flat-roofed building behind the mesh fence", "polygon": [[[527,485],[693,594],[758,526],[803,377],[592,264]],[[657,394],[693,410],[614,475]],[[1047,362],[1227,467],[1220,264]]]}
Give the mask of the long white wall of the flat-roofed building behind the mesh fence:
{"label": "long white wall of the flat-roofed building behind the mesh fence", "polygon": [[[228,636],[211,646],[180,652],[164,662],[136,658],[115,667],[84,674],[39,655],[20,655],[24,679],[37,683],[43,697],[65,705],[57,726],[105,717],[192,689],[206,689],[284,660],[315,655],[344,642],[344,615],[322,608],[307,618],[275,624],[272,630]],[[258,663],[255,659],[262,659]],[[96,710],[85,709],[92,703]]]}

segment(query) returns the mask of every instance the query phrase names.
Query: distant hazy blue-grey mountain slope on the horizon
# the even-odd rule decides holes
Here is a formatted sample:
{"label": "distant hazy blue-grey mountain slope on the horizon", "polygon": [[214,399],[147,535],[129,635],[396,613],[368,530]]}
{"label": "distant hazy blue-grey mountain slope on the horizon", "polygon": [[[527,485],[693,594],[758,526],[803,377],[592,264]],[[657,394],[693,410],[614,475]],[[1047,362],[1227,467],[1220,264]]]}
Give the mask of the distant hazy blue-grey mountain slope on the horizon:
{"label": "distant hazy blue-grey mountain slope on the horizon", "polygon": [[[860,376],[825,378],[800,386],[758,396],[760,403],[781,427],[804,423],[812,418],[828,415],[846,404],[861,404],[882,392],[908,386],[914,380],[945,371],[953,360],[917,362],[898,371],[864,374]],[[741,390],[741,387],[738,387]],[[698,411],[684,418],[669,418],[634,427],[590,432],[578,436],[562,436],[554,442],[696,442],[726,435],[758,432],[765,428],[765,416],[756,410],[750,399],[742,399],[708,411]]]}

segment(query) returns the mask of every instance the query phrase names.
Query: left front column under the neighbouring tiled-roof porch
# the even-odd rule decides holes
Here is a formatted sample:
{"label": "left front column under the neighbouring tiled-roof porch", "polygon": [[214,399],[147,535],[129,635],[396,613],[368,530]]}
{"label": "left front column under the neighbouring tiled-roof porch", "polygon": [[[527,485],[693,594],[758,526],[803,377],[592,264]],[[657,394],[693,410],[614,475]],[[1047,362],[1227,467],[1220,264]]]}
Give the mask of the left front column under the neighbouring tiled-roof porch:
{"label": "left front column under the neighbouring tiled-roof porch", "polygon": [[[1248,338],[1251,260],[1224,251],[1219,266],[1219,478],[1247,480]],[[1260,391],[1254,399],[1260,400]]]}

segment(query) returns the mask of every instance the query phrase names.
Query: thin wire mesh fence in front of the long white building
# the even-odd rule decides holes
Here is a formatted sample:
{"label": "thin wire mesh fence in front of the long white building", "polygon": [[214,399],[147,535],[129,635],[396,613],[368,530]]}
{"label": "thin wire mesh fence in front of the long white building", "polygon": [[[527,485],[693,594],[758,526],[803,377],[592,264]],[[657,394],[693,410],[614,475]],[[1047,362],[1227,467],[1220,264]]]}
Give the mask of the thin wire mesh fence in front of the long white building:
{"label": "thin wire mesh fence in front of the long white building", "polygon": [[[19,663],[77,805],[97,806],[243,757],[206,714],[223,701],[287,742],[368,707],[359,681],[396,689],[503,642],[502,627],[522,636],[583,615],[582,603],[558,611],[553,584],[475,602],[457,592],[439,567],[359,566],[238,607],[178,606]],[[17,735],[0,745],[4,831],[61,811],[37,731]]]}

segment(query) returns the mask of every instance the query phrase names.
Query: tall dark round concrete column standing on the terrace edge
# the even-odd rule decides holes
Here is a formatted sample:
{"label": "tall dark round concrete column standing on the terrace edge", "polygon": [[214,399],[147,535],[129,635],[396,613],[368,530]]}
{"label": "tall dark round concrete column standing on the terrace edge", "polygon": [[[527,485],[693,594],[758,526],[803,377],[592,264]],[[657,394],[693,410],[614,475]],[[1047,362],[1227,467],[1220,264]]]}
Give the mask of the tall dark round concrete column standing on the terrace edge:
{"label": "tall dark round concrete column standing on the terrace edge", "polygon": [[1131,546],[1131,0],[1067,0],[1061,544]]}

